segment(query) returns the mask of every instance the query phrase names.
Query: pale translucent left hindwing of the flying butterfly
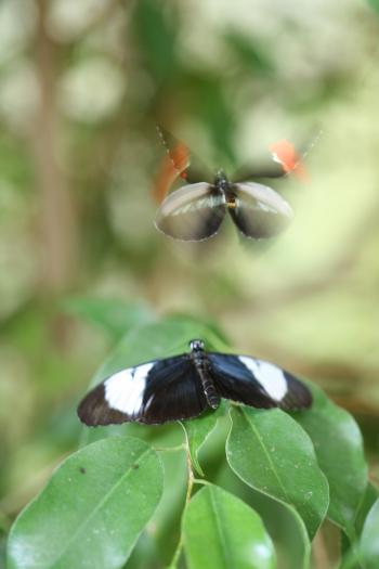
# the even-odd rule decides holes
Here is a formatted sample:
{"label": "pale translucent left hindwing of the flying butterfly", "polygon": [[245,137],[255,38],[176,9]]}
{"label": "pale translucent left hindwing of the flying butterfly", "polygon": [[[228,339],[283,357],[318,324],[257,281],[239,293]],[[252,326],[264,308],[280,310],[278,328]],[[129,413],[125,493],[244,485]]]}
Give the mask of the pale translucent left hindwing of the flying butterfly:
{"label": "pale translucent left hindwing of the flying butterfly", "polygon": [[225,197],[205,182],[180,187],[159,207],[155,224],[181,241],[202,241],[214,235],[225,216]]}

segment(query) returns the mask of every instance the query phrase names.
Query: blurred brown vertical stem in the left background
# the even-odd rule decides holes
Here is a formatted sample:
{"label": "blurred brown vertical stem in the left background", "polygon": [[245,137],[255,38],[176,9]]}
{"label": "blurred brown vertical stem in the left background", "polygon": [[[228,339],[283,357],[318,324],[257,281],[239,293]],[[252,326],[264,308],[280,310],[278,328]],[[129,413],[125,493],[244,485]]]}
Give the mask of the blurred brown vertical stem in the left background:
{"label": "blurred brown vertical stem in the left background", "polygon": [[65,289],[75,274],[77,225],[67,178],[58,166],[60,113],[56,100],[57,46],[45,29],[49,2],[38,0],[36,64],[40,104],[31,132],[41,196],[43,288]]}

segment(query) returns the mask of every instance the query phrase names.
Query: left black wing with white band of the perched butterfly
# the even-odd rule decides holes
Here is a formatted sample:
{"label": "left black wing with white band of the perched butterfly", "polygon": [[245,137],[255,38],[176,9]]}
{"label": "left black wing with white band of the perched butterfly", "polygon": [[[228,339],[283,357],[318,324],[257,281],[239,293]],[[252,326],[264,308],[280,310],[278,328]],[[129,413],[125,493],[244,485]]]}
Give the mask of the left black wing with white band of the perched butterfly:
{"label": "left black wing with white band of the perched butterfly", "polygon": [[113,374],[84,397],[78,415],[88,426],[160,424],[196,417],[206,406],[196,368],[182,354]]}

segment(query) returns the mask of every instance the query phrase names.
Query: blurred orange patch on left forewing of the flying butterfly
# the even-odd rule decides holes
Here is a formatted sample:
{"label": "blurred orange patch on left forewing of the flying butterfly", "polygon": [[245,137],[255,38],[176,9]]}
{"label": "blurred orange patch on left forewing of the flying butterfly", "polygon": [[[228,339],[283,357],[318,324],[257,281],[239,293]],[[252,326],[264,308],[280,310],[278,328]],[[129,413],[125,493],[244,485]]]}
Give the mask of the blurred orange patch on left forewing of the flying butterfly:
{"label": "blurred orange patch on left forewing of the flying butterfly", "polygon": [[158,204],[165,199],[179,176],[183,180],[186,179],[185,170],[188,166],[190,151],[183,142],[179,142],[177,146],[168,151],[157,173],[153,194]]}

